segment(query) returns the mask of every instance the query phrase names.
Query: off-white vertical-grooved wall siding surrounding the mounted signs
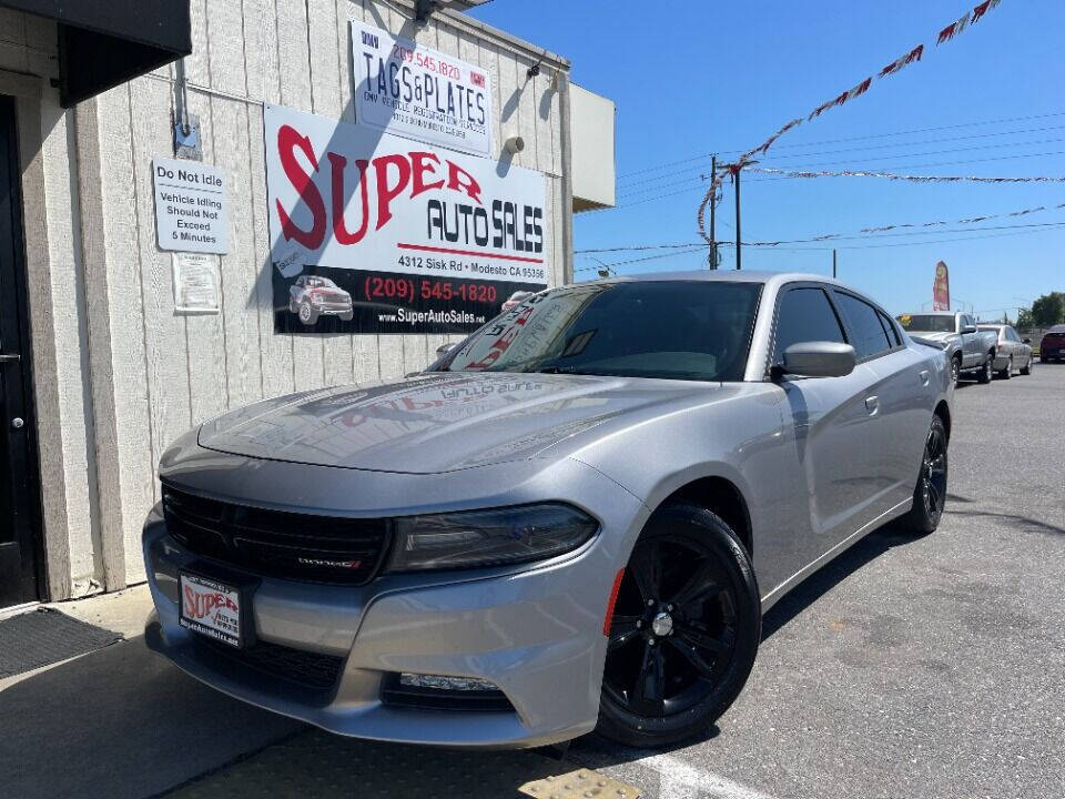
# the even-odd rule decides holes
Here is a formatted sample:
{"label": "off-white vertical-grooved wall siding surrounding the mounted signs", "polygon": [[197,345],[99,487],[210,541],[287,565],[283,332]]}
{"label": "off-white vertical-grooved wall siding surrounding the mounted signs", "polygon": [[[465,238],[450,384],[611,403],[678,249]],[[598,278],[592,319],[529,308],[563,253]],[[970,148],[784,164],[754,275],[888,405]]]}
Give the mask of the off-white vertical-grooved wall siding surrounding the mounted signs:
{"label": "off-white vertical-grooved wall siding surrounding the mounted signs", "polygon": [[[508,136],[521,135],[526,149],[515,163],[546,174],[546,252],[552,283],[561,282],[562,130],[554,69],[529,79],[537,58],[506,37],[440,13],[419,28],[410,16],[403,3],[376,0],[192,0],[189,110],[201,120],[204,162],[230,178],[232,244],[221,257],[219,315],[175,315],[171,254],[155,244],[151,164],[172,155],[174,68],[78,109],[95,429],[73,418],[60,426],[70,433],[80,425],[95,451],[99,508],[83,510],[98,514],[92,546],[106,588],[143,579],[140,526],[158,499],[155,464],[176,436],[264,396],[398,377],[428,364],[445,341],[273,332],[262,105],[353,122],[349,20],[402,31],[491,73],[494,156]],[[68,507],[65,515],[77,512]]]}

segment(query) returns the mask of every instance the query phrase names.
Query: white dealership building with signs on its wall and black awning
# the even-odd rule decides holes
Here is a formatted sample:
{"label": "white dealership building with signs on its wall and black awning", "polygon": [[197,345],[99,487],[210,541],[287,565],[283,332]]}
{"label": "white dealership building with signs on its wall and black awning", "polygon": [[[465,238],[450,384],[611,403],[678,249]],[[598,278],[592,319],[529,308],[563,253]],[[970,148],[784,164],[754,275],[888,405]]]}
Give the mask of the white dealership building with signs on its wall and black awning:
{"label": "white dealership building with signs on its wall and black awning", "polygon": [[426,0],[0,0],[0,607],[144,577],[155,466],[572,280],[613,104]]}

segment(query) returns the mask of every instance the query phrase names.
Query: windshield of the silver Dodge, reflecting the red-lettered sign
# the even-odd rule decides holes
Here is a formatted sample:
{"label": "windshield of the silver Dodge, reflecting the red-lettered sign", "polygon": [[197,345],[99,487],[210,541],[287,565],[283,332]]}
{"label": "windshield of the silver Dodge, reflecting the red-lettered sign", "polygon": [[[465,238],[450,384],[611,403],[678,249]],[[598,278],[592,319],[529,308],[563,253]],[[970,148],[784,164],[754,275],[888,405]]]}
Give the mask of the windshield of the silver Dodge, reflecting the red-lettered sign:
{"label": "windshield of the silver Dodge, reflecting the red-lettered sign", "polygon": [[544,292],[435,368],[742,380],[760,283],[633,281]]}

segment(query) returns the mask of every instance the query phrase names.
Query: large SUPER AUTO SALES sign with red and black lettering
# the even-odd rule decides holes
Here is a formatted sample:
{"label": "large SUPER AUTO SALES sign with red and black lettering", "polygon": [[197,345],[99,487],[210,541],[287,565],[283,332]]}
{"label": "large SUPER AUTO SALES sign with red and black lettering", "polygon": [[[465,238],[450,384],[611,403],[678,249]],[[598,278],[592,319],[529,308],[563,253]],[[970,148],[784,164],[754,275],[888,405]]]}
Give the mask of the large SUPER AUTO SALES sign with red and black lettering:
{"label": "large SUPER AUTO SALES sign with red and black lettering", "polygon": [[462,333],[547,286],[539,172],[266,105],[274,328]]}

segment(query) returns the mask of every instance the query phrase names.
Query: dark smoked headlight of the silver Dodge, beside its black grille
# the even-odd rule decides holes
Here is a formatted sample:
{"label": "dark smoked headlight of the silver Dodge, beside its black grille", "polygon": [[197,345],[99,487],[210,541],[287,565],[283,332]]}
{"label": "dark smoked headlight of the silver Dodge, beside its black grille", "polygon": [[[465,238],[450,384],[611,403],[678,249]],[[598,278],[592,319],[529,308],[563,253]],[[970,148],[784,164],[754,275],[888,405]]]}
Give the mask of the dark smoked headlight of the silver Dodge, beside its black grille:
{"label": "dark smoked headlight of the silver Dodge, beside its black grille", "polygon": [[388,572],[469,568],[545,560],[571,552],[599,528],[569,505],[545,504],[396,519]]}

